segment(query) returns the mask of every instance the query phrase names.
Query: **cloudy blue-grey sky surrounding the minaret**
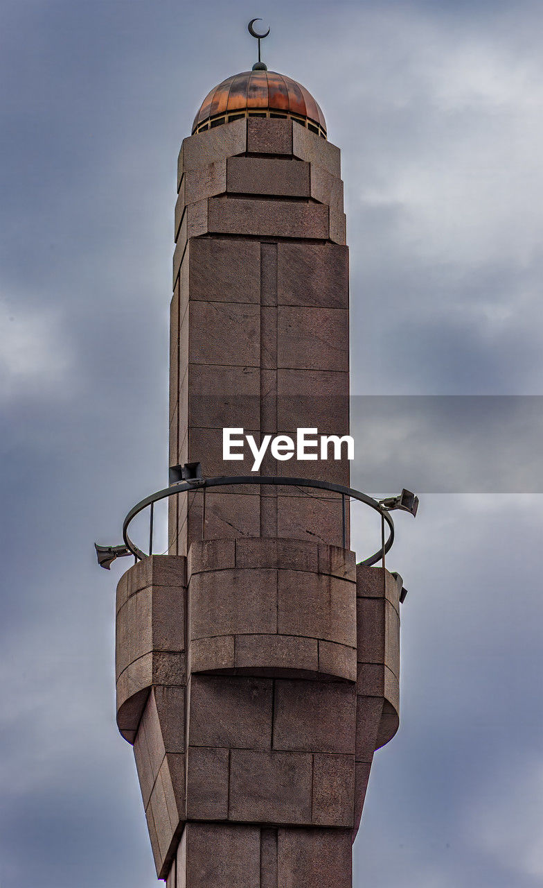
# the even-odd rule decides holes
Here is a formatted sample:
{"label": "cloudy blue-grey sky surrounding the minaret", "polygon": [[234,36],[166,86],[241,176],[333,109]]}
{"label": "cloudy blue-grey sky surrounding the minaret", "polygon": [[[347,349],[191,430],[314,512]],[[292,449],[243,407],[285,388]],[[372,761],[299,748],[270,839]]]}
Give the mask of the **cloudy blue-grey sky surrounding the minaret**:
{"label": "cloudy blue-grey sky surrounding the minaret", "polygon": [[[390,494],[390,453],[418,457],[402,483],[421,508],[390,558],[409,590],[403,720],[374,760],[354,884],[533,888],[543,7],[523,0],[3,0],[0,888],[156,884],[114,725],[126,565],[100,571],[92,543],[120,541],[166,480],[177,152],[209,89],[252,64],[258,14],[264,59],[342,147],[357,430],[362,396],[381,420],[401,396],[388,463],[369,435],[381,474],[358,473]],[[438,406],[413,423],[421,395]],[[467,395],[483,400],[447,400]],[[366,536],[360,519],[362,557]]]}

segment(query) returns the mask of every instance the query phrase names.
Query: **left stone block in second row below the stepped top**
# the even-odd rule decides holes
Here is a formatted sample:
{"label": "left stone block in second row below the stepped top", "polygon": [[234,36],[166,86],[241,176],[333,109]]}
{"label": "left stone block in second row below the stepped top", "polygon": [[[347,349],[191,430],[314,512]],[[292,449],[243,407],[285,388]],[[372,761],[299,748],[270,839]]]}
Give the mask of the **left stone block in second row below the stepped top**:
{"label": "left stone block in second row below the stepped top", "polygon": [[187,323],[192,364],[260,365],[260,308],[257,305],[191,301],[183,326]]}

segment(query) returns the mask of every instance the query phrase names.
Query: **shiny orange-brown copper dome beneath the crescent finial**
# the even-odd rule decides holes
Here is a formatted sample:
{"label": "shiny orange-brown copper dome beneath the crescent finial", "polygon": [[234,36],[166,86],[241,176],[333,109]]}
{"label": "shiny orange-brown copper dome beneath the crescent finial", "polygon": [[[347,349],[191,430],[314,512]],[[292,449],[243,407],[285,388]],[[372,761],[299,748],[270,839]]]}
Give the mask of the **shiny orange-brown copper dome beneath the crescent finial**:
{"label": "shiny orange-brown copper dome beneath the crescent finial", "polygon": [[301,83],[275,71],[244,71],[219,83],[203,100],[194,117],[193,133],[238,117],[291,117],[327,137],[319,105]]}

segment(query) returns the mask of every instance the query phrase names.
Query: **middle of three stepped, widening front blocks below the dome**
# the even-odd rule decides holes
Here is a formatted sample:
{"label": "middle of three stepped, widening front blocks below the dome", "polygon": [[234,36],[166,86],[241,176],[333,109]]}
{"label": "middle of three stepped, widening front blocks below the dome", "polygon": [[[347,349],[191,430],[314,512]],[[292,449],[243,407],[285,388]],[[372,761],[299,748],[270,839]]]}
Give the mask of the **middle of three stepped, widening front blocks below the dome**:
{"label": "middle of three stepped, widening front blocks below the dome", "polygon": [[231,157],[226,181],[229,194],[311,196],[310,164],[290,158]]}

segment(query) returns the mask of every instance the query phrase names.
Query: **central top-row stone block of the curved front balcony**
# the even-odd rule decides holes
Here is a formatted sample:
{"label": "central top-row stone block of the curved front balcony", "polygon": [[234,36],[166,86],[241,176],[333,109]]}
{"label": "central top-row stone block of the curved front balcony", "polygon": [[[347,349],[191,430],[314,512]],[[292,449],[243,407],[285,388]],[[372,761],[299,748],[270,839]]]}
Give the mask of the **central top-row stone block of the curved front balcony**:
{"label": "central top-row stone block of the curved front balcony", "polygon": [[290,570],[319,570],[317,543],[274,537],[236,540],[236,567],[274,567]]}

